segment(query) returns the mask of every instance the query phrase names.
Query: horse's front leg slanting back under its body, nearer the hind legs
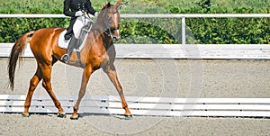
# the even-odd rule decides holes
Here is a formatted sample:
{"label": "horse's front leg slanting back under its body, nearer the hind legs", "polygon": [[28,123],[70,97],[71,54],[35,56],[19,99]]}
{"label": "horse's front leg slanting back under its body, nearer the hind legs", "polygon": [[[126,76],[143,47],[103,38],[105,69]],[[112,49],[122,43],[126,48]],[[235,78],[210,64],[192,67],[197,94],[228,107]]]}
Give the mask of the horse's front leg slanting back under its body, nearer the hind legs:
{"label": "horse's front leg slanting back under its body, nearer the hind legs", "polygon": [[76,104],[73,107],[74,112],[73,112],[72,116],[70,117],[70,119],[72,119],[72,120],[78,119],[77,110],[79,108],[79,104],[81,103],[81,100],[83,99],[83,97],[85,95],[86,85],[87,85],[89,78],[93,72],[94,72],[94,70],[92,67],[85,67],[85,69],[84,69],[82,83],[81,83],[81,87],[79,90],[78,98],[76,100]]}

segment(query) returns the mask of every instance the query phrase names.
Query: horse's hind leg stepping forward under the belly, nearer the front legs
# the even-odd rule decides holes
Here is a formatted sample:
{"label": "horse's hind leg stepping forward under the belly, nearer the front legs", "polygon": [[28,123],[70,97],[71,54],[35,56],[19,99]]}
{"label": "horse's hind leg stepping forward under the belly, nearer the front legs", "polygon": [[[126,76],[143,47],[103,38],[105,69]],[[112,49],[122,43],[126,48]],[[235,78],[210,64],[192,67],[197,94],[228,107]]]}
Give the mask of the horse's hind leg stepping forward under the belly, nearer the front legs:
{"label": "horse's hind leg stepping forward under the belly, nearer the front legs", "polygon": [[66,117],[66,113],[64,112],[61,104],[59,103],[56,95],[54,95],[51,88],[50,75],[51,75],[52,65],[40,64],[40,68],[41,68],[42,76],[43,76],[42,86],[46,89],[53,103],[58,108],[58,117]]}

